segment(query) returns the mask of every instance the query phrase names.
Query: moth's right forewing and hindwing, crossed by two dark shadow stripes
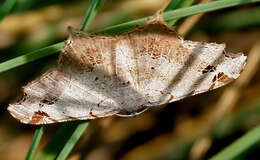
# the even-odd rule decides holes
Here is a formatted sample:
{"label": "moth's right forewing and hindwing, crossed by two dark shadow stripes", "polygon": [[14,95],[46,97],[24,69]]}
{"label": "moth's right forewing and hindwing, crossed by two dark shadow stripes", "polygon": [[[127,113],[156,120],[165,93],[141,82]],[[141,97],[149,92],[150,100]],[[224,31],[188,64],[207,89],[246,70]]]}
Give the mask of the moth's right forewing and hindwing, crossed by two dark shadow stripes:
{"label": "moth's right forewing and hindwing, crossed by two dark shadow stripes", "polygon": [[246,56],[226,53],[224,44],[184,41],[158,24],[143,33],[141,38],[130,33],[129,39],[136,47],[139,93],[146,106],[221,87],[238,78],[245,65]]}

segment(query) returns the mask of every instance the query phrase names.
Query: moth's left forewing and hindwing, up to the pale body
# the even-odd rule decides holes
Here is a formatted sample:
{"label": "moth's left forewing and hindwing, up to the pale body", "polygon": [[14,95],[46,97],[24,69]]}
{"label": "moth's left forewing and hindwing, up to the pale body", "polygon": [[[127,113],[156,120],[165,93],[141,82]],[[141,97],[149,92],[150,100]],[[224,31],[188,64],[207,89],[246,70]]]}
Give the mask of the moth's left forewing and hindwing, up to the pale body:
{"label": "moth's left forewing and hindwing, up to the pale body", "polygon": [[71,31],[58,68],[26,85],[23,98],[8,107],[23,123],[94,119],[119,112],[113,38]]}

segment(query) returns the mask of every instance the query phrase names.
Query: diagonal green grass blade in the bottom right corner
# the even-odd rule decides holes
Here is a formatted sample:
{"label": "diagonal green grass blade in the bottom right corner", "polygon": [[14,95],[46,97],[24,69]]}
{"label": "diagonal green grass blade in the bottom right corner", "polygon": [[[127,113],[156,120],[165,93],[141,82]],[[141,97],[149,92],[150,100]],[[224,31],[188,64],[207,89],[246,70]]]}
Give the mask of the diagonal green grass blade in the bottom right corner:
{"label": "diagonal green grass blade in the bottom right corner", "polygon": [[[237,159],[244,153],[252,149],[253,146],[260,143],[260,126],[252,129],[244,136],[236,140],[231,145],[227,146],[224,150],[210,158],[210,160],[231,160]],[[240,157],[241,159],[241,157]]]}

